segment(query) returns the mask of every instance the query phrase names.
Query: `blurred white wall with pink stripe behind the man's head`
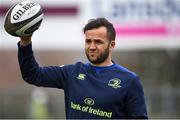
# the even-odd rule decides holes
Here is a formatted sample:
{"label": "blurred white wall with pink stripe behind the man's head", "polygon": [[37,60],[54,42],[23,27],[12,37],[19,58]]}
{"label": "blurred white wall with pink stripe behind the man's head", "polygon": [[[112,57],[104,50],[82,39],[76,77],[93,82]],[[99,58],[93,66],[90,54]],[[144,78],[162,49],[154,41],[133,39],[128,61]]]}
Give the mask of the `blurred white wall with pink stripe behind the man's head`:
{"label": "blurred white wall with pink stripe behind the man's head", "polygon": [[[19,1],[1,0],[0,7],[10,7]],[[117,29],[120,29],[117,33],[116,49],[180,48],[180,1],[178,0],[35,1],[43,7],[74,6],[78,9],[76,15],[45,16],[41,27],[33,35],[35,49],[83,49],[82,28],[88,19],[96,17],[106,17]],[[1,15],[0,49],[16,49],[18,38],[4,31],[3,21],[4,15]],[[142,30],[144,26],[146,31]],[[159,29],[158,26],[163,26],[166,33],[152,32],[153,29],[149,29],[152,26],[155,30]]]}

